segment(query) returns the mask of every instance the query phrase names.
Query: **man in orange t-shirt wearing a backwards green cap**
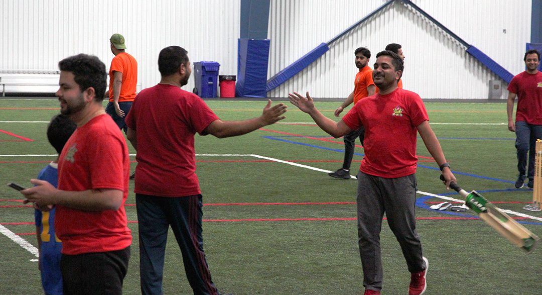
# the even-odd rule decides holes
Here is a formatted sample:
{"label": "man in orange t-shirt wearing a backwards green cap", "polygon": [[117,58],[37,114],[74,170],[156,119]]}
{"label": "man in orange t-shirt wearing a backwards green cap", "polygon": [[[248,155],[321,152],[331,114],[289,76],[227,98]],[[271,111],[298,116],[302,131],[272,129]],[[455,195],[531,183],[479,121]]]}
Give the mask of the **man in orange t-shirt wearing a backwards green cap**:
{"label": "man in orange t-shirt wearing a backwards green cap", "polygon": [[128,127],[124,123],[124,116],[128,114],[135,98],[135,85],[137,85],[137,61],[125,52],[124,37],[113,34],[111,52],[115,55],[109,67],[109,103],[105,111],[113,121],[126,133]]}

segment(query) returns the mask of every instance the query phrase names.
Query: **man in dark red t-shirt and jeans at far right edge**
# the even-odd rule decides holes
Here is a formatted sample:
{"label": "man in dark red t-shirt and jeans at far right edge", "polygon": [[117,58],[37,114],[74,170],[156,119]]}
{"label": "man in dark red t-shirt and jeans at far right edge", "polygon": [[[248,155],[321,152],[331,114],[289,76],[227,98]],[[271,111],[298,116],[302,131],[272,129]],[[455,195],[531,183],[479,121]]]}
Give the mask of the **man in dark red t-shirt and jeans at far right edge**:
{"label": "man in dark red t-shirt and jeans at far right edge", "polygon": [[[527,187],[534,187],[534,155],[537,139],[542,139],[542,72],[540,53],[537,50],[528,50],[523,57],[527,70],[514,76],[508,84],[508,101],[506,113],[508,114],[508,130],[515,131],[515,148],[518,157],[519,176],[515,188],[520,189],[529,179]],[[514,113],[514,100],[518,97],[518,111]],[[529,154],[529,170],[527,168],[527,152]]]}

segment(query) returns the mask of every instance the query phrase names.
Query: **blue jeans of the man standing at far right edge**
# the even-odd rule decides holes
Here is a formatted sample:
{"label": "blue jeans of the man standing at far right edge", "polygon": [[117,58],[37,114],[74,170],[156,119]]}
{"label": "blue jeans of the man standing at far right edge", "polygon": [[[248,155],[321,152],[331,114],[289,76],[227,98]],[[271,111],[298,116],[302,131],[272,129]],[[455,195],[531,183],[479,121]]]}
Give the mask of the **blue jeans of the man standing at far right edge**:
{"label": "blue jeans of the man standing at far right edge", "polygon": [[537,142],[537,139],[542,139],[542,125],[532,125],[525,121],[517,121],[515,123],[515,136],[519,175],[525,175],[528,152],[529,170],[527,172],[527,178],[534,179],[535,143]]}

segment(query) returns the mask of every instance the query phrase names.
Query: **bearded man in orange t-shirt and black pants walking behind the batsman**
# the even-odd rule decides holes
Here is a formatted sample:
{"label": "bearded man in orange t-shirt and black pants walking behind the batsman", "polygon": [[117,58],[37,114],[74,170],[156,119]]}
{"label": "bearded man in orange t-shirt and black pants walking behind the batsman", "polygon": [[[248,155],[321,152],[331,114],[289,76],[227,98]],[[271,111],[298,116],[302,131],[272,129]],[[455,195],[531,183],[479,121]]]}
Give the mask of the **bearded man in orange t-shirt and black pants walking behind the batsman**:
{"label": "bearded man in orange t-shirt and black pants walking behind the batsman", "polygon": [[[359,47],[356,49],[354,54],[356,54],[356,67],[359,69],[359,72],[356,74],[356,80],[354,80],[354,91],[352,91],[348,98],[346,98],[346,100],[337,108],[337,110],[335,110],[335,117],[339,117],[339,114],[343,112],[344,108],[349,106],[352,102],[354,102],[355,105],[360,99],[370,97],[371,95],[375,94],[375,83],[372,81],[372,69],[368,66],[369,59],[371,58],[370,50],[365,47]],[[356,138],[358,137],[359,141],[363,145],[363,126],[343,137],[343,167],[335,172],[329,173],[329,176],[350,179],[350,164],[352,163],[354,146],[356,145]]]}

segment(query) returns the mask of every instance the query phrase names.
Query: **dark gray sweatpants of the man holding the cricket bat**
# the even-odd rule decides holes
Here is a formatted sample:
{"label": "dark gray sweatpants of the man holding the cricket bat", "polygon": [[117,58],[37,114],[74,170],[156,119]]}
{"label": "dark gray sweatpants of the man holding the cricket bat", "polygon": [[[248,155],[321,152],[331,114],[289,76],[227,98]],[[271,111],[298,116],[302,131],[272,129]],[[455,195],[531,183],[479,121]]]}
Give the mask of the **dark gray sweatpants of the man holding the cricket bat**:
{"label": "dark gray sweatpants of the man holding the cricket bat", "polygon": [[382,289],[380,230],[384,212],[399,241],[411,273],[423,271],[422,244],[416,232],[416,175],[383,178],[358,172],[358,237],[362,258],[363,286]]}

